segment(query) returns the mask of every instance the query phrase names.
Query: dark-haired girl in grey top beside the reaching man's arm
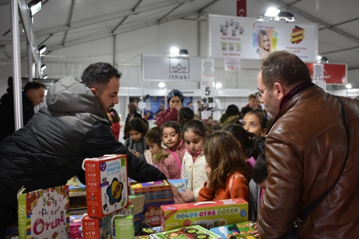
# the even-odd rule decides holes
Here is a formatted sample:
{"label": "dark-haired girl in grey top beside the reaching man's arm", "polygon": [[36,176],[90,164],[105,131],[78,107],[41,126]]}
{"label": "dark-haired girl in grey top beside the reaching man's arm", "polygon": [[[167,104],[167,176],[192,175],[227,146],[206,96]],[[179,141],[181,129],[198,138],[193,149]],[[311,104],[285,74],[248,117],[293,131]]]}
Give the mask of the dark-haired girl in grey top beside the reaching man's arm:
{"label": "dark-haired girl in grey top beside the reaching man's arm", "polygon": [[124,145],[134,154],[137,158],[146,160],[144,158],[144,152],[148,149],[148,145],[145,142],[145,135],[148,131],[148,126],[142,119],[135,118],[125,125],[125,136],[128,138]]}

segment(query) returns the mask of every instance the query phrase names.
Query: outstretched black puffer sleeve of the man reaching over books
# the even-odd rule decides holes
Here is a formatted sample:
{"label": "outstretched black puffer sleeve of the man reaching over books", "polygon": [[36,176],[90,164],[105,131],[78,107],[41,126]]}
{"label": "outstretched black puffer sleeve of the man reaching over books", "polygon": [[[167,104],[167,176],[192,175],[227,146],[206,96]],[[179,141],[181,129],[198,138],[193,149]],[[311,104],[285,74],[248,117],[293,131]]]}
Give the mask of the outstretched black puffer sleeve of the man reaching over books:
{"label": "outstretched black puffer sleeve of the man reaching over books", "polygon": [[126,154],[129,177],[138,182],[167,179],[157,168],[134,156],[121,142],[114,138],[110,126],[96,123],[85,134],[80,144],[87,158],[98,158],[105,154]]}

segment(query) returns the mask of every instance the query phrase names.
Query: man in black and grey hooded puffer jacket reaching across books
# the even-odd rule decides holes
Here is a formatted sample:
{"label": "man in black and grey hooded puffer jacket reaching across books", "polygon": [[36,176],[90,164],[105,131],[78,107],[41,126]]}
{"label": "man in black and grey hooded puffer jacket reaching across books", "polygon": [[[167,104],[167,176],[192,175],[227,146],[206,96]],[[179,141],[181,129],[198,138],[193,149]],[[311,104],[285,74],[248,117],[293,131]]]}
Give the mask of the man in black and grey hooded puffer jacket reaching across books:
{"label": "man in black and grey hooded puffer jacket reaching across books", "polygon": [[97,63],[81,79],[57,81],[48,91],[47,108],[0,144],[0,238],[17,215],[16,194],[22,186],[27,191],[47,189],[65,185],[74,175],[84,182],[83,159],[127,154],[132,179],[166,179],[114,138],[105,112],[118,103],[120,77],[111,64]]}

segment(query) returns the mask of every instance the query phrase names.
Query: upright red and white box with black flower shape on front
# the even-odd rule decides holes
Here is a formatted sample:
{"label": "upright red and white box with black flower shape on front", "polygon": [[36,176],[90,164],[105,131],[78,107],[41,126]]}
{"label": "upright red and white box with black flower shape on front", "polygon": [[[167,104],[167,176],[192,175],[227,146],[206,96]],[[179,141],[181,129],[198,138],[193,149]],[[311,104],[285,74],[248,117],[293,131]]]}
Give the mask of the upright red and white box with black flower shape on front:
{"label": "upright red and white box with black flower shape on front", "polygon": [[128,206],[127,155],[85,159],[84,165],[89,217],[103,218]]}

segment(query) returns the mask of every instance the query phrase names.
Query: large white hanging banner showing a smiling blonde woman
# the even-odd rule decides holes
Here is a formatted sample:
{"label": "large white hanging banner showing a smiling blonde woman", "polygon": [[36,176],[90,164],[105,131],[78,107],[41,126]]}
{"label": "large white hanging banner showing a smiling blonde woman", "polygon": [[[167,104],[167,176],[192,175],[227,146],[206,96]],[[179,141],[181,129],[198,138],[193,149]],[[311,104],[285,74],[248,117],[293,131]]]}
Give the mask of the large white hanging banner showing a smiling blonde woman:
{"label": "large white hanging banner showing a smiling blonde woman", "polygon": [[220,15],[208,19],[210,57],[262,59],[287,50],[303,62],[317,61],[317,24]]}

